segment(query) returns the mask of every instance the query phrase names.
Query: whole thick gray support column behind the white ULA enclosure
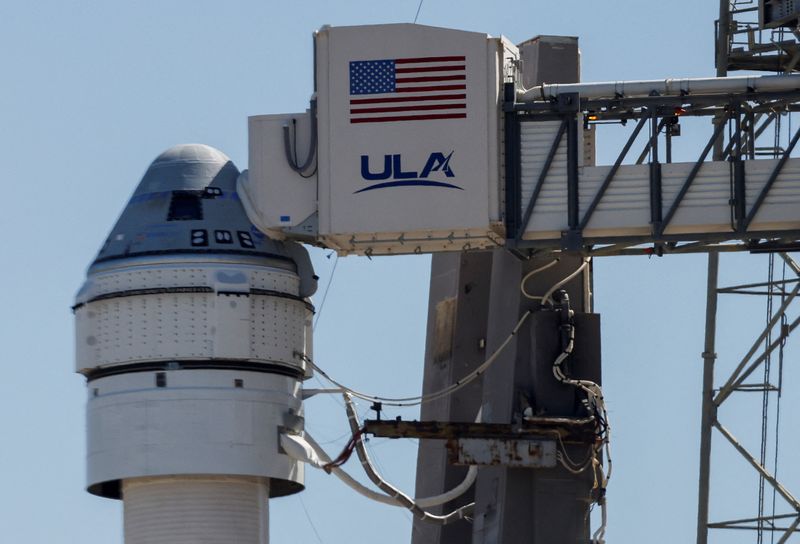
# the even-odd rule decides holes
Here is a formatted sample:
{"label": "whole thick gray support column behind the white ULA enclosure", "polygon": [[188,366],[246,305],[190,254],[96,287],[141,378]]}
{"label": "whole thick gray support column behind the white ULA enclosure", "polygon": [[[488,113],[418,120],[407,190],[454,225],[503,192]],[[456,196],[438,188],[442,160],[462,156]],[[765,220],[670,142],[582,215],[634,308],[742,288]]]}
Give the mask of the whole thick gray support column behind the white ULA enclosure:
{"label": "whole thick gray support column behind the white ULA enclosure", "polygon": [[[574,83],[580,79],[578,40],[563,36],[540,36],[520,44],[525,87],[548,83]],[[592,164],[593,133],[584,133],[585,164]],[[549,258],[522,262],[504,250],[482,253],[434,255],[431,265],[431,291],[428,307],[428,338],[425,356],[423,391],[438,390],[481,364],[516,324],[523,308],[538,303],[520,295],[519,283],[529,270],[549,262]],[[580,259],[564,258],[528,285],[533,292],[544,292],[556,281],[574,271]],[[573,308],[591,311],[591,271],[580,275],[565,288]],[[535,320],[532,320],[532,322]],[[503,356],[483,379],[440,401],[423,405],[421,419],[470,421],[483,404],[483,420],[509,422],[519,399],[516,391],[531,389],[534,384],[561,387],[552,382],[536,381],[536,374],[552,365],[552,359],[540,356],[540,365],[531,366],[532,344],[544,350],[549,333],[536,335],[529,324],[521,333],[520,344],[512,342]],[[586,329],[594,327],[586,325]],[[576,324],[576,328],[579,325]],[[543,328],[541,330],[544,330]],[[589,335],[587,335],[589,336]],[[524,338],[523,338],[524,337]],[[485,344],[481,343],[485,339]],[[597,335],[595,335],[597,339]],[[538,344],[537,344],[538,342]],[[485,347],[481,347],[484,346]],[[520,354],[518,357],[517,354]],[[597,363],[596,361],[594,363]],[[488,410],[490,413],[487,413]],[[580,451],[570,451],[579,458]],[[474,488],[475,521],[445,527],[414,521],[413,544],[465,544],[537,542],[562,544],[572,542],[566,535],[583,537],[588,531],[588,473],[575,477],[561,469],[550,472],[523,469],[481,468]],[[443,441],[422,440],[417,460],[417,496],[428,496],[449,489],[461,481],[466,470],[447,463]],[[565,498],[566,497],[566,498]],[[576,501],[576,497],[581,497]],[[473,500],[472,492],[442,510]],[[554,518],[562,520],[555,525]],[[547,520],[536,524],[534,520]],[[536,531],[545,531],[535,534]],[[543,529],[552,526],[553,531]],[[561,534],[554,532],[563,530]],[[534,540],[535,538],[535,540]],[[587,537],[588,538],[588,537]]]}

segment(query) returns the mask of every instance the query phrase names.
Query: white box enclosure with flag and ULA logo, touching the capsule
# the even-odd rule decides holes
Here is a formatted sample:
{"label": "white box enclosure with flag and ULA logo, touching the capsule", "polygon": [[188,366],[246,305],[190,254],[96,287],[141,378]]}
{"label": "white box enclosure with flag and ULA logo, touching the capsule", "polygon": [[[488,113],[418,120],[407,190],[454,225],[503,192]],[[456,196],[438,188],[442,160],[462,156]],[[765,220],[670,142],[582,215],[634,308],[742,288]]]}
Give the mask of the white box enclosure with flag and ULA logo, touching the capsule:
{"label": "white box enclosure with flag and ULA logo, touching the capsule", "polygon": [[497,245],[501,90],[516,47],[395,24],[325,27],[315,51],[316,112],[250,118],[239,191],[251,219],[342,253]]}

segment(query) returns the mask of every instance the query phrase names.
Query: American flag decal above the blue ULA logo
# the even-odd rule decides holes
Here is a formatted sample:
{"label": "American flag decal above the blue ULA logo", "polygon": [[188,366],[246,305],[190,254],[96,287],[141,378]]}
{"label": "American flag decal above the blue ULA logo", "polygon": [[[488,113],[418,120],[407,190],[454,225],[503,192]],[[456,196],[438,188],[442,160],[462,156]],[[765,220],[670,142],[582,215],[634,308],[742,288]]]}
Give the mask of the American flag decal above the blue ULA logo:
{"label": "American flag decal above the blue ULA logo", "polygon": [[350,62],[350,122],[467,117],[465,57]]}

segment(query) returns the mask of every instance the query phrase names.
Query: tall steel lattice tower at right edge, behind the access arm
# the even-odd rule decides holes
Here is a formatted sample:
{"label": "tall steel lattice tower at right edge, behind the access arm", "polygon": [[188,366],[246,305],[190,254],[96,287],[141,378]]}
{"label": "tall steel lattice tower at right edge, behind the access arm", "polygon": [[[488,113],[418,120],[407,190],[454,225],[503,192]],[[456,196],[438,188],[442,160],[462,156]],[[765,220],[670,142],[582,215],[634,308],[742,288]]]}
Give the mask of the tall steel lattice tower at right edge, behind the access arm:
{"label": "tall steel lattice tower at right edge, behind the access arm", "polygon": [[[797,29],[778,28],[766,29],[763,27],[763,0],[720,0],[719,19],[716,21],[716,68],[718,76],[726,76],[729,70],[761,70],[768,72],[789,73],[798,69],[800,62],[800,35]],[[788,39],[786,39],[788,36]],[[794,111],[789,109],[787,111]],[[753,139],[761,136],[770,126],[774,129],[771,146],[756,147],[751,144],[751,151],[756,154],[773,157],[788,156],[796,144],[792,137],[789,146],[781,145],[780,123],[781,112],[773,111],[767,115],[763,124],[752,134]],[[715,159],[725,158],[730,144],[724,148],[721,141],[715,149]],[[752,153],[751,153],[752,156]],[[769,250],[781,249],[781,243],[765,242],[761,248]],[[796,249],[789,247],[786,249]],[[718,286],[719,253],[709,253],[708,258],[708,283],[706,304],[706,330],[705,347],[703,350],[703,405],[700,431],[700,474],[698,489],[698,514],[697,514],[697,544],[707,544],[710,530],[745,530],[756,535],[756,541],[765,542],[765,536],[770,535],[770,542],[775,542],[778,537],[779,544],[786,542],[792,535],[800,531],[800,502],[789,489],[776,478],[778,445],[780,433],[779,425],[775,426],[775,461],[772,471],[768,468],[767,452],[767,424],[769,421],[769,401],[777,397],[783,388],[782,363],[783,349],[789,334],[800,325],[800,317],[789,321],[789,310],[800,292],[800,266],[786,253],[778,253],[785,263],[784,270],[788,269],[794,274],[792,279],[774,277],[775,257],[770,256],[770,268],[767,281],[720,288]],[[714,383],[714,369],[717,359],[715,353],[717,332],[717,300],[719,295],[750,295],[765,296],[767,299],[767,322],[764,328],[755,335],[755,341],[750,349],[734,367],[725,382],[716,388]],[[773,308],[773,301],[778,297],[780,306]],[[795,304],[796,306],[796,304]],[[777,352],[779,368],[777,371],[777,385],[771,383],[773,371],[771,369],[772,356]],[[758,354],[758,355],[757,355]],[[761,383],[746,383],[746,380],[758,371],[762,371]],[[719,408],[723,404],[732,403],[740,393],[760,392],[762,395],[761,413],[761,448],[759,455],[750,452],[733,434],[722,424],[718,417]],[[780,408],[776,410],[776,417],[780,415]],[[753,468],[758,475],[758,512],[756,516],[733,519],[726,521],[709,522],[710,475],[712,466],[711,439],[714,429],[738,452],[742,458]],[[765,497],[772,491],[772,512],[766,513]],[[780,496],[785,504],[792,510],[790,513],[779,514],[775,512],[775,499]]]}

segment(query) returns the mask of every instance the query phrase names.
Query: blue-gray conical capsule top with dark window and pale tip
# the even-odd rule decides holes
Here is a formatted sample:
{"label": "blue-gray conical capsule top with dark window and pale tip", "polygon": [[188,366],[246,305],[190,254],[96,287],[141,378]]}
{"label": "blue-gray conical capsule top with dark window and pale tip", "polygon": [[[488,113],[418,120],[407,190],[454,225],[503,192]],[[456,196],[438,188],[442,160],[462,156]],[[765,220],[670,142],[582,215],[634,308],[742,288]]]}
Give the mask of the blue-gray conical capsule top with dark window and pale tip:
{"label": "blue-gray conical capsule top with dark window and pale tip", "polygon": [[239,254],[310,268],[302,246],[267,238],[250,222],[236,192],[239,174],[207,145],[166,150],[144,173],[92,267],[152,255]]}

